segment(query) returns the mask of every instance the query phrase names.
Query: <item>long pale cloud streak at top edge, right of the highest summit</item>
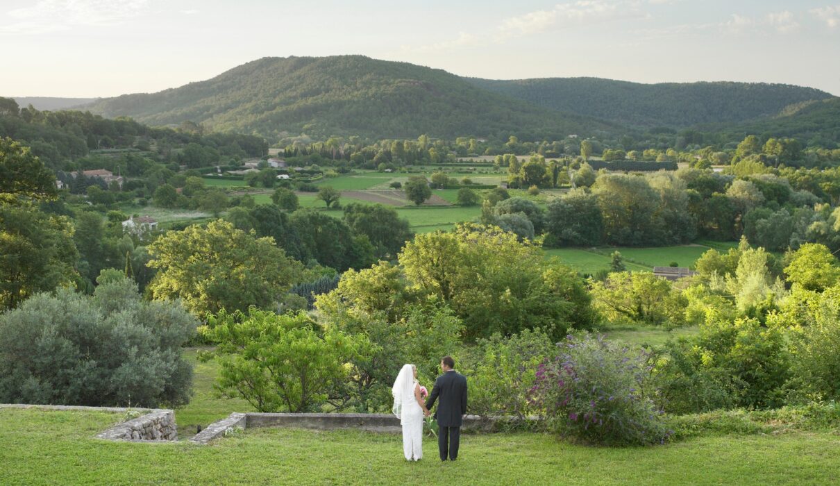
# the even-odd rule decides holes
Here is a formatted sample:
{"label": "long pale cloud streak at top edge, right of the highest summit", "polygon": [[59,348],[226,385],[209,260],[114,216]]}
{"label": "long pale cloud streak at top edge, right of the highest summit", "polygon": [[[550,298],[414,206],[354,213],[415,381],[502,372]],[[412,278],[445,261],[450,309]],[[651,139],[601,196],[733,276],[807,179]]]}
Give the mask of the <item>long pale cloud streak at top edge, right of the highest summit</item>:
{"label": "long pale cloud streak at top edge, right of the highest summit", "polygon": [[[661,0],[652,0],[659,1]],[[622,18],[647,17],[641,1],[607,2],[605,0],[578,0],[558,3],[550,10],[537,10],[507,18],[498,27],[496,40],[538,34],[555,25],[591,24]]]}

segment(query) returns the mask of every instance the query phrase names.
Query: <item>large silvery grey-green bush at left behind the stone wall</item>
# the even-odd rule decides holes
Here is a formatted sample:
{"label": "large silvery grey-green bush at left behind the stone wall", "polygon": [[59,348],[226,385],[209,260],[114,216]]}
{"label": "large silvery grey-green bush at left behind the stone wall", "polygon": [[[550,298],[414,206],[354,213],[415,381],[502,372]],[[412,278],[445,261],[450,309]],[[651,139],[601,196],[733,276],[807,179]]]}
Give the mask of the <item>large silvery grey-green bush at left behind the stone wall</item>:
{"label": "large silvery grey-green bush at left behind the stone wall", "polygon": [[176,302],[140,300],[119,277],[92,296],[60,289],[0,315],[0,403],[184,405],[181,345],[197,321]]}

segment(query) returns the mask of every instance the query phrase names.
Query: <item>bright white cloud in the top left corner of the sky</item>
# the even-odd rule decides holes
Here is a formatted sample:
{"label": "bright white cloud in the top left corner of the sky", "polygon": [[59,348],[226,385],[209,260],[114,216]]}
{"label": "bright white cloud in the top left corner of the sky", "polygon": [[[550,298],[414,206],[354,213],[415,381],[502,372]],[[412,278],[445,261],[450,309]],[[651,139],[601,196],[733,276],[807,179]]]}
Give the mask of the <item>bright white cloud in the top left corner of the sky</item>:
{"label": "bright white cloud in the top left corner of the sky", "polygon": [[143,14],[148,0],[39,0],[7,12],[18,22],[0,25],[0,34],[45,34],[72,27],[107,27]]}

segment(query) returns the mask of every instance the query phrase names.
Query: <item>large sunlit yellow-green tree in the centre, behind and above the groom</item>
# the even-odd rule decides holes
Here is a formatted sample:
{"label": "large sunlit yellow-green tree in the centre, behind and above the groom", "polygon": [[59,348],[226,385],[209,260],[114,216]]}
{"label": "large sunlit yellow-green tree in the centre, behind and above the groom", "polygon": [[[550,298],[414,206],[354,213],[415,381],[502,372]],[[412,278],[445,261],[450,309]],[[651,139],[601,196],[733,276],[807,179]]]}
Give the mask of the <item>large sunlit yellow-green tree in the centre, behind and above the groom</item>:
{"label": "large sunlit yellow-green tree in the centre, behind and above the groom", "polygon": [[534,327],[564,336],[575,312],[589,306],[572,298],[574,284],[549,285],[538,247],[499,227],[462,223],[450,233],[418,234],[399,261],[411,288],[449,305],[470,338]]}

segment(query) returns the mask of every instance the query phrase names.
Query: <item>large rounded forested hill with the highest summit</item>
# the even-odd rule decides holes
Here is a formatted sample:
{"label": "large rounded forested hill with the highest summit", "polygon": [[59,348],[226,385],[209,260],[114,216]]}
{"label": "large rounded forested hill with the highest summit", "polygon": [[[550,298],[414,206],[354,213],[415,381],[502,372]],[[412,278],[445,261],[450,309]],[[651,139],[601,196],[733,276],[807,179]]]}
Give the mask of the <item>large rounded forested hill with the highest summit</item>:
{"label": "large rounded forested hill with the highest summit", "polygon": [[191,120],[267,138],[556,138],[610,128],[498,95],[446,71],[360,55],[263,58],[207,81],[105,98],[86,108],[108,118],[153,125]]}

